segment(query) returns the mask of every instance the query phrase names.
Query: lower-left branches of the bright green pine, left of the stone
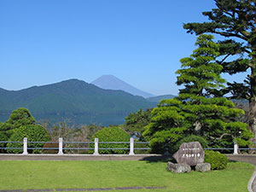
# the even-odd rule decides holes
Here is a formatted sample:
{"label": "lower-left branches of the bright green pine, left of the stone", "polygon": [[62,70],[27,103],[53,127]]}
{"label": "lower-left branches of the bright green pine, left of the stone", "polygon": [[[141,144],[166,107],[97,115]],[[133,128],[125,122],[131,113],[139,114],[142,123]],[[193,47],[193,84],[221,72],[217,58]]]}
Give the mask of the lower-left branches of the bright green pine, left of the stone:
{"label": "lower-left branches of the bright green pine, left of the stone", "polygon": [[166,139],[168,142],[176,143],[183,137],[184,117],[179,113],[183,103],[177,99],[162,100],[158,108],[151,112],[150,123],[145,126],[143,136],[149,141],[151,152],[156,154],[164,153]]}

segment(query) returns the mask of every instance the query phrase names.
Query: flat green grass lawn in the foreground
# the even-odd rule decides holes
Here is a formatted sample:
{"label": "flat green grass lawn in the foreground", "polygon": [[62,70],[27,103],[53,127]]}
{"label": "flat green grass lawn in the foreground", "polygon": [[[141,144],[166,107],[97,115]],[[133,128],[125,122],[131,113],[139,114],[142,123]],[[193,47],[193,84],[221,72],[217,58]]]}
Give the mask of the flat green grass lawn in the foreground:
{"label": "flat green grass lawn in the foreground", "polygon": [[[178,174],[166,163],[146,161],[0,161],[0,189],[73,189],[166,186],[126,191],[247,191],[254,166],[229,163],[227,169]],[[119,190],[125,191],[125,190]]]}

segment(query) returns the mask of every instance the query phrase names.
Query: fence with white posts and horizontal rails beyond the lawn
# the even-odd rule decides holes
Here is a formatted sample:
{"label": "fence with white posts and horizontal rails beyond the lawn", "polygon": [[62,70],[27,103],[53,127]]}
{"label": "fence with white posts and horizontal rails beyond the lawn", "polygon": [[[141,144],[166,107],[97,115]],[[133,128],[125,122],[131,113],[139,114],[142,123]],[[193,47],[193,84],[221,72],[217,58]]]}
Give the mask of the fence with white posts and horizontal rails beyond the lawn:
{"label": "fence with white posts and horizontal rails beyond the lawn", "polygon": [[[59,138],[58,142],[52,141],[52,142],[32,142],[32,141],[27,141],[27,138],[23,139],[23,142],[11,142],[11,141],[0,141],[0,143],[20,143],[23,144],[23,147],[0,147],[0,149],[18,149],[18,150],[22,150],[23,149],[23,153],[22,154],[28,154],[27,150],[55,150],[58,151],[58,154],[63,154],[63,150],[94,150],[95,155],[99,154],[99,150],[130,150],[130,155],[134,154],[135,150],[150,150],[151,148],[134,148],[134,144],[148,144],[148,142],[134,142],[134,139],[131,138],[130,142],[99,142],[98,138],[95,138],[94,142],[63,142],[62,138]],[[53,148],[49,148],[49,147],[30,147],[28,146],[28,144],[31,143],[55,143],[58,144],[58,147],[53,147]],[[69,144],[91,144],[91,147],[68,147]],[[129,144],[129,148],[99,148],[99,144]],[[254,145],[256,145],[256,142],[253,142]],[[233,154],[238,154],[239,150],[256,150],[256,148],[239,148],[237,143],[234,143],[234,148],[204,148],[205,150],[232,150],[234,151]]]}

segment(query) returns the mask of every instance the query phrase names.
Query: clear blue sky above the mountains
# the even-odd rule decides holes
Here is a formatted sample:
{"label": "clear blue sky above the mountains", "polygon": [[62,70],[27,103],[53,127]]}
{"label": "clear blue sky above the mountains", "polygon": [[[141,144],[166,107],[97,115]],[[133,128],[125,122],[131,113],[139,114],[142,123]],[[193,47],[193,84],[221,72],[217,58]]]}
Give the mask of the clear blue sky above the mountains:
{"label": "clear blue sky above the mountains", "polygon": [[154,95],[177,95],[179,60],[195,49],[183,23],[213,0],[0,1],[0,87],[20,90],[112,74]]}

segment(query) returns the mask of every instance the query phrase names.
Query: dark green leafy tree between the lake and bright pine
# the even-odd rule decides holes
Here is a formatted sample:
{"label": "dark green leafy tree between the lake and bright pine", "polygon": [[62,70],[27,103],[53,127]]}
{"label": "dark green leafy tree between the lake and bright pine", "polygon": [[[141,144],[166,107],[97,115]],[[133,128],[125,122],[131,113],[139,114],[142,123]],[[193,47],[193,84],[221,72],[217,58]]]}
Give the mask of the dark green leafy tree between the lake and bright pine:
{"label": "dark green leafy tree between the lake and bright pine", "polygon": [[130,113],[125,117],[125,131],[128,131],[131,136],[135,136],[139,141],[144,141],[142,135],[144,126],[148,125],[150,121],[150,114],[152,108],[143,111],[143,109],[138,110],[136,113]]}

